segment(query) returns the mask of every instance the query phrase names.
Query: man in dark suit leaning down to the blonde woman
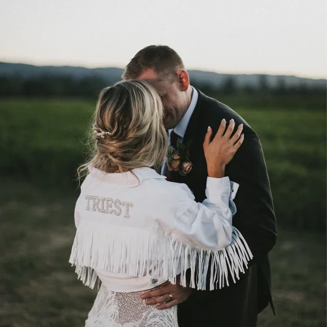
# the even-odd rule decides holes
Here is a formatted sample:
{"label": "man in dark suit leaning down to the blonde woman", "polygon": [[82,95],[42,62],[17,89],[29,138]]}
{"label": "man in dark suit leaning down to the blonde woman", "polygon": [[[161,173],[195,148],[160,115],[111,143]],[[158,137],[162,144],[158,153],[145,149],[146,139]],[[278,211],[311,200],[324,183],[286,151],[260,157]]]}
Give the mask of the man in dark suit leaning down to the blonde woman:
{"label": "man in dark suit leaning down to the blonde woman", "polygon": [[[178,138],[192,140],[193,163],[186,176],[171,172],[170,180],[185,183],[202,202],[206,187],[204,135],[211,126],[214,134],[222,119],[244,124],[244,142],[230,164],[226,176],[240,184],[235,203],[236,226],[246,239],[254,259],[240,280],[214,291],[197,291],[179,285],[166,285],[144,294],[148,305],[166,309],[178,304],[180,327],[254,327],[256,318],[270,303],[271,276],[268,252],[276,242],[276,221],[264,154],[258,135],[233,110],[205,96],[190,85],[189,75],[179,55],[169,46],[150,45],[139,51],[126,66],[123,78],[142,79],[153,85],[165,107],[164,124],[170,130],[170,144]],[[155,297],[155,298],[152,298]]]}

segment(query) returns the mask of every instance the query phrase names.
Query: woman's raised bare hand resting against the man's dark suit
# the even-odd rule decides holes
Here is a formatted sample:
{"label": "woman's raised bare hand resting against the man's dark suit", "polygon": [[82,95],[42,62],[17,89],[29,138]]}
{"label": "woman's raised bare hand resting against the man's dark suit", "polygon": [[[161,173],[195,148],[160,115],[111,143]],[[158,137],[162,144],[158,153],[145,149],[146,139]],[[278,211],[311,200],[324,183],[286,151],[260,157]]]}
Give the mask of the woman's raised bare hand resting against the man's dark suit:
{"label": "woman's raised bare hand resting against the man's dark suit", "polygon": [[235,122],[232,119],[224,133],[226,129],[226,120],[223,119],[212,142],[210,142],[210,140],[213,130],[211,127],[208,127],[203,143],[203,149],[209,177],[224,177],[225,166],[230,162],[243,143],[244,134],[241,134],[243,124],[239,125],[235,134],[231,137],[234,127]]}

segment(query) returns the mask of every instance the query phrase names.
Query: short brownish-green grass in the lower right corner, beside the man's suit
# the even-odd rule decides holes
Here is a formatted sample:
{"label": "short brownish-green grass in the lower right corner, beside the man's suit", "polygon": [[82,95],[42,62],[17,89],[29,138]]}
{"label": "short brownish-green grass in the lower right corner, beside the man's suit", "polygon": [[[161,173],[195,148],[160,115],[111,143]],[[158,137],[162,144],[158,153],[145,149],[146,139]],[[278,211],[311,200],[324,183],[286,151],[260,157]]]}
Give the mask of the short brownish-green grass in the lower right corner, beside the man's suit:
{"label": "short brownish-green grass in the lower right corner, beside the man's suit", "polygon": [[326,324],[326,238],[324,233],[279,229],[272,250],[273,297],[260,327],[322,327]]}

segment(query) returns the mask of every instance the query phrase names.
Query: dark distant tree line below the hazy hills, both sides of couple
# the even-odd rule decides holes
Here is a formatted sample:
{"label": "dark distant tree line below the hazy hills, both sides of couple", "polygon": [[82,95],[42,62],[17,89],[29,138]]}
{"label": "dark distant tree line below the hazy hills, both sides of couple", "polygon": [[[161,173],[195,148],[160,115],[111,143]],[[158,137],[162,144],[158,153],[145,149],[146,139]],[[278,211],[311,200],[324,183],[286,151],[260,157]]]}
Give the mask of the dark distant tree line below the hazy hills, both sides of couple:
{"label": "dark distant tree line below the hazy hills, both sides of couple", "polygon": [[[112,81],[113,83],[114,81]],[[111,84],[112,84],[111,83]],[[192,85],[200,88],[208,95],[234,95],[234,94],[275,94],[275,95],[325,95],[326,87],[313,88],[305,83],[289,87],[285,78],[279,77],[277,85],[271,87],[267,76],[261,75],[259,86],[245,85],[240,87],[234,77],[229,76],[220,87],[213,87],[206,83],[192,81]],[[108,82],[99,76],[76,79],[69,76],[39,76],[22,78],[20,76],[0,76],[0,97],[79,97],[96,98],[99,91],[108,86]]]}

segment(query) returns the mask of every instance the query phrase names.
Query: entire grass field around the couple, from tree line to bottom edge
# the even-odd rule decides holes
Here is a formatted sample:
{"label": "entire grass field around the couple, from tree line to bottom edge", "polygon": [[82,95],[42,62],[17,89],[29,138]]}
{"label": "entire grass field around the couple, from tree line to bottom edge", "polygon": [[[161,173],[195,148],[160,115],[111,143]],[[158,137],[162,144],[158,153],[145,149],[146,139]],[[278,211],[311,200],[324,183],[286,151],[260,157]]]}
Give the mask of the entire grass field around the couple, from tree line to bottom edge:
{"label": "entire grass field around the couple, from tree line to bottom edge", "polygon": [[[220,100],[261,138],[279,225],[271,252],[277,316],[265,310],[259,327],[325,326],[325,99]],[[95,298],[67,263],[72,180],[94,106],[0,99],[1,327],[79,327]]]}

